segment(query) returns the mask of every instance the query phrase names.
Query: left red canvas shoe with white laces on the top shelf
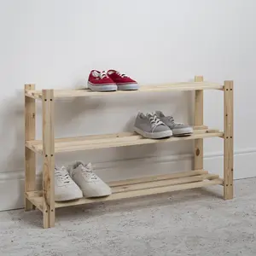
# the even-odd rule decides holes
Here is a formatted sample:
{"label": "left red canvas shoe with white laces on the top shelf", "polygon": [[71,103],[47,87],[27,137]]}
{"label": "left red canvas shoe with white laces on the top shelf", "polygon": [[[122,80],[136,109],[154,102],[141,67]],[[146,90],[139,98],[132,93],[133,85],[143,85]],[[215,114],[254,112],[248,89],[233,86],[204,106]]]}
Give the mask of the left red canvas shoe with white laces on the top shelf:
{"label": "left red canvas shoe with white laces on the top shelf", "polygon": [[105,71],[101,73],[92,70],[88,78],[88,88],[96,91],[112,91],[117,90],[117,85],[108,77]]}

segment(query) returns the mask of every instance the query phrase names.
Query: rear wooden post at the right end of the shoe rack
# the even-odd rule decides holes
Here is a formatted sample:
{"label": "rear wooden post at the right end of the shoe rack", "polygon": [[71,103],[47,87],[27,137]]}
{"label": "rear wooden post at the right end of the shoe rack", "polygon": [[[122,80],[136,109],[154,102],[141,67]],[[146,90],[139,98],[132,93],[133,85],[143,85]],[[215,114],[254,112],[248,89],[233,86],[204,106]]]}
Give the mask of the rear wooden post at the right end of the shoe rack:
{"label": "rear wooden post at the right end of the shoe rack", "polygon": [[[195,82],[202,82],[202,76],[195,76]],[[195,126],[204,124],[204,95],[203,90],[195,90]],[[203,169],[203,139],[195,140],[194,170]]]}

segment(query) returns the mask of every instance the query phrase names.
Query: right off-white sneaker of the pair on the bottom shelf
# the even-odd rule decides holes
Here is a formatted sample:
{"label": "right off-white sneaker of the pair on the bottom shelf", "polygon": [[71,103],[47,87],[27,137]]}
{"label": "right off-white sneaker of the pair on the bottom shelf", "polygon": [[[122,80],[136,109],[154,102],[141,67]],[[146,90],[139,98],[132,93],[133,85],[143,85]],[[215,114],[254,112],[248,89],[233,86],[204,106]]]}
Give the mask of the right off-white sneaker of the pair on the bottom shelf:
{"label": "right off-white sneaker of the pair on the bottom shelf", "polygon": [[74,182],[79,185],[83,191],[84,197],[100,197],[111,195],[111,189],[104,183],[100,177],[92,172],[92,166],[87,166],[83,162],[77,161],[67,168]]}

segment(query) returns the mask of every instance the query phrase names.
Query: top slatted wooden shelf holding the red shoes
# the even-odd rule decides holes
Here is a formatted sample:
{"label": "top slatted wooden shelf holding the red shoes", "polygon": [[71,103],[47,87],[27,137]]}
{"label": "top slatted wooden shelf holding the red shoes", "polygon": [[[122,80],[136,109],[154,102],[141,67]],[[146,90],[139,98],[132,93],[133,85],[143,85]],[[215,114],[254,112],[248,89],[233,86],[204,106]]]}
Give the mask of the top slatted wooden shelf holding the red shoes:
{"label": "top slatted wooden shelf holding the red shoes", "polygon": [[[131,94],[141,92],[157,92],[157,91],[172,91],[172,90],[223,90],[223,84],[207,83],[207,82],[189,82],[175,84],[159,84],[159,85],[143,85],[139,90],[117,90],[111,92],[92,91],[88,89],[79,90],[54,90],[55,98],[66,97],[82,97],[82,96],[109,96],[119,94]],[[41,99],[42,90],[26,90],[26,96]]]}

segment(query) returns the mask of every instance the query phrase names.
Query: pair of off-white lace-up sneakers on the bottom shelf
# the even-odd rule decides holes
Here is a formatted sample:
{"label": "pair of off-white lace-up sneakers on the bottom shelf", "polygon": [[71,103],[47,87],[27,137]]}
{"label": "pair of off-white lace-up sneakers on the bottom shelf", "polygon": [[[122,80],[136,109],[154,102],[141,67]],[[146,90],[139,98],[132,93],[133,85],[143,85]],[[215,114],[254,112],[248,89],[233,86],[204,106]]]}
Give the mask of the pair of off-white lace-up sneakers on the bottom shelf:
{"label": "pair of off-white lace-up sneakers on the bottom shelf", "polygon": [[81,161],[67,168],[55,167],[55,201],[111,195],[108,184],[92,171],[90,163],[85,166]]}

